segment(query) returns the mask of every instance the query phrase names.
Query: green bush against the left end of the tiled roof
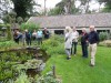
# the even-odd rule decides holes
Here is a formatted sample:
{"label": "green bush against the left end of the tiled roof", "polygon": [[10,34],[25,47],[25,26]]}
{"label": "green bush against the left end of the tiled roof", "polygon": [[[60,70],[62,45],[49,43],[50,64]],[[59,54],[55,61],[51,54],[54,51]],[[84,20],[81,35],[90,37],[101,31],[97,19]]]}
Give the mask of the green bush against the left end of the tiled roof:
{"label": "green bush against the left end of the tiled roof", "polygon": [[30,31],[38,30],[39,28],[40,28],[40,25],[39,24],[34,24],[34,23],[22,23],[21,27],[20,27],[21,30],[28,29]]}

